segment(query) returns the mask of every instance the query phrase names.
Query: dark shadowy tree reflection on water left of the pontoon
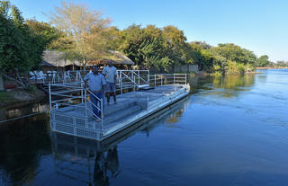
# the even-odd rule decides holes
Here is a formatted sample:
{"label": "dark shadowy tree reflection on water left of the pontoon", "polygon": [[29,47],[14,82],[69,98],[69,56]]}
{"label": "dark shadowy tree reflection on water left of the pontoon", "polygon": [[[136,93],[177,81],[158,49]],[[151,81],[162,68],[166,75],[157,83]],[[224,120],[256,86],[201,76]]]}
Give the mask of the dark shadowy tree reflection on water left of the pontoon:
{"label": "dark shadowy tree reflection on water left of the pontoon", "polygon": [[50,152],[44,115],[0,125],[0,167],[3,182],[22,185],[31,182],[39,166],[39,157]]}

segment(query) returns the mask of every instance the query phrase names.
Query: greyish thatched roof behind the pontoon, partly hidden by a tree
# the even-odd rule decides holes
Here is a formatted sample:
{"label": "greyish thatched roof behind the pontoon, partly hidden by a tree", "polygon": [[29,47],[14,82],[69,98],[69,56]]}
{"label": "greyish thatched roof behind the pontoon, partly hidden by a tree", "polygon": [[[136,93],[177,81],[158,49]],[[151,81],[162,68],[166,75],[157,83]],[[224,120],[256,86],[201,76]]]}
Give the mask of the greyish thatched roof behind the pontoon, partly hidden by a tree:
{"label": "greyish thatched roof behind the pontoon, partly hidden by a tree", "polygon": [[[101,60],[90,61],[86,66],[93,65],[105,65],[108,63],[108,60],[111,59],[114,65],[134,65],[134,62],[121,54],[119,51],[110,50],[109,54],[106,57],[103,57]],[[45,50],[43,53],[43,60],[50,64],[51,66],[82,66],[78,60],[71,61],[66,58],[66,53],[63,51],[56,50]],[[42,66],[47,66],[46,63],[41,64]]]}

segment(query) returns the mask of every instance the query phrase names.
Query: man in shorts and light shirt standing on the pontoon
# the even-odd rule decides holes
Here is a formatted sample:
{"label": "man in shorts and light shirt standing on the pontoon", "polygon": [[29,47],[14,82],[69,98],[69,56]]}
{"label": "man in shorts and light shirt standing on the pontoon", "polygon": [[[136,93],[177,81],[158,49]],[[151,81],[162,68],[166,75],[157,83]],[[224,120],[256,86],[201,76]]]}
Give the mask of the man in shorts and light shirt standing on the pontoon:
{"label": "man in shorts and light shirt standing on the pontoon", "polygon": [[105,66],[103,68],[102,74],[105,76],[106,79],[106,87],[105,87],[105,93],[107,96],[107,104],[110,103],[110,94],[112,94],[114,98],[114,103],[116,102],[116,81],[117,81],[117,69],[115,66],[112,66],[112,60],[110,59],[108,61],[108,66]]}

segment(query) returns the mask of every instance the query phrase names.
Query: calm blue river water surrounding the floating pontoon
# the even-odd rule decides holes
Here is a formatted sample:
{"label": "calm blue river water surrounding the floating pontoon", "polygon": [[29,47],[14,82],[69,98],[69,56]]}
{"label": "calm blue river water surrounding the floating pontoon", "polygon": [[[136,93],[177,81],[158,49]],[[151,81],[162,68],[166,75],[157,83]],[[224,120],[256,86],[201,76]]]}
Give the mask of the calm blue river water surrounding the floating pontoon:
{"label": "calm blue river water surrounding the floating pontoon", "polygon": [[193,77],[105,143],[50,132],[46,113],[0,123],[0,185],[287,185],[288,70],[259,73]]}

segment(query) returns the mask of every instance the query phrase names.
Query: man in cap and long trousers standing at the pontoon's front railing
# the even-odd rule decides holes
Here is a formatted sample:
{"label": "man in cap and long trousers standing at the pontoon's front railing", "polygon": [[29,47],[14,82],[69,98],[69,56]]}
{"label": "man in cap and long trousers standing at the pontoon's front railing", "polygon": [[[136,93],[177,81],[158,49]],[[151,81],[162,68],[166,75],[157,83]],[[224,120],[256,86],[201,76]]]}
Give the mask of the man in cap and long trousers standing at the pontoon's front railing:
{"label": "man in cap and long trousers standing at the pontoon's front railing", "polygon": [[[92,105],[92,108],[93,108],[94,115],[97,116],[95,118],[96,118],[96,121],[98,122],[99,119],[101,119],[101,114],[103,113],[101,113],[101,111],[99,111],[99,109],[97,109],[95,106],[97,106],[98,108],[101,108],[100,100],[102,100],[103,102],[103,90],[104,90],[104,85],[106,85],[106,81],[103,75],[101,75],[98,72],[98,66],[93,66],[92,72],[93,73],[88,73],[87,75],[85,75],[84,81],[85,81],[85,84],[87,81],[89,81],[88,86],[91,92],[93,93],[90,95],[91,102],[93,102],[94,104]],[[98,106],[98,103],[99,103],[99,106]]]}

